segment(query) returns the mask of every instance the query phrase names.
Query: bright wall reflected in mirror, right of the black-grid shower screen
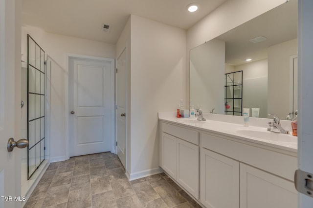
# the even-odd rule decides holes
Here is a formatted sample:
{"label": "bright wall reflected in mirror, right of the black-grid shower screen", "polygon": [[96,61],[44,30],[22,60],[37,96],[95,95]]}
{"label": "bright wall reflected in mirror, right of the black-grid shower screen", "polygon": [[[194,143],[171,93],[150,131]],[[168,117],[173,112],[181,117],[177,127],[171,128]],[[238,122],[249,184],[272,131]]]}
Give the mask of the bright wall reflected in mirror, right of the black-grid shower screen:
{"label": "bright wall reflected in mirror, right of the black-grid shower screen", "polygon": [[243,71],[243,108],[260,108],[259,117],[268,117],[268,59],[235,66]]}

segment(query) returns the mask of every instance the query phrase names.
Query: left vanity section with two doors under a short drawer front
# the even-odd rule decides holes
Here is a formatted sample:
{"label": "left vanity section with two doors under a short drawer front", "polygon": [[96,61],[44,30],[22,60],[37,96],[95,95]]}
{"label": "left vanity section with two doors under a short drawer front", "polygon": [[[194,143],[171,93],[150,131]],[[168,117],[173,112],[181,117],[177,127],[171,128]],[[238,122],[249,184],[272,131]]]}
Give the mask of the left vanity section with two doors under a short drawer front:
{"label": "left vanity section with two doors under a short drawer front", "polygon": [[199,199],[199,132],[161,124],[160,166]]}

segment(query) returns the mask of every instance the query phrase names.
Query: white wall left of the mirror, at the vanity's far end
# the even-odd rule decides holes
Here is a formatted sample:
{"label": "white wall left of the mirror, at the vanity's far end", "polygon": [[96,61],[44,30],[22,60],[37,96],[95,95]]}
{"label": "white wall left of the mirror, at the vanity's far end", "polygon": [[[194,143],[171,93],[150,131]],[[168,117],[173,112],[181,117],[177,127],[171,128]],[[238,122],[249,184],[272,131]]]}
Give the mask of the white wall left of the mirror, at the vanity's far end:
{"label": "white wall left of the mirror, at the vanity's far end", "polygon": [[131,17],[131,178],[159,170],[157,112],[186,100],[186,31]]}

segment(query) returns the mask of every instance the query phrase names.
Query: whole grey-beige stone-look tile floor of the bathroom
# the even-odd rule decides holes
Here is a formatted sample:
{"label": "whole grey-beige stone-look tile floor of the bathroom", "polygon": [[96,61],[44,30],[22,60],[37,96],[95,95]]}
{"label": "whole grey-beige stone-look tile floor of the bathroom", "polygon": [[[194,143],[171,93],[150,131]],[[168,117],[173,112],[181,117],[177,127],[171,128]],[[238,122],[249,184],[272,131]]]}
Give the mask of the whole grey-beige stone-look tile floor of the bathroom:
{"label": "whole grey-beige stone-look tile floor of the bathroom", "polygon": [[164,173],[129,181],[115,154],[51,163],[24,208],[193,208],[200,206]]}

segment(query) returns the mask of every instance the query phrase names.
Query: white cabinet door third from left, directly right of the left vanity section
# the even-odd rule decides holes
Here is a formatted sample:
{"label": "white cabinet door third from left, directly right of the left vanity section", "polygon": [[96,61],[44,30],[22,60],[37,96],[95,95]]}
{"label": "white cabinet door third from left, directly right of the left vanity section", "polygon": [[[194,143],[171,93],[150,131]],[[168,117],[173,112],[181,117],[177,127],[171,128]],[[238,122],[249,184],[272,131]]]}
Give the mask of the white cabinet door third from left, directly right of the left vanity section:
{"label": "white cabinet door third from left, directly right of the left vanity section", "polygon": [[207,208],[239,208],[239,162],[201,148],[200,197]]}

